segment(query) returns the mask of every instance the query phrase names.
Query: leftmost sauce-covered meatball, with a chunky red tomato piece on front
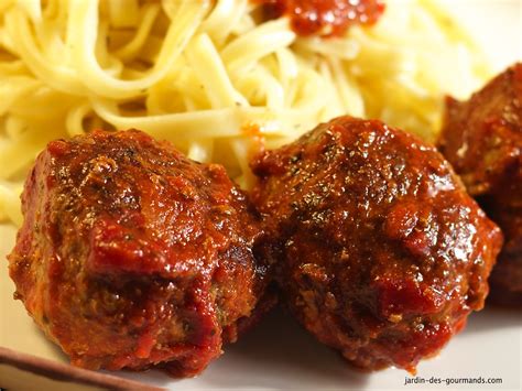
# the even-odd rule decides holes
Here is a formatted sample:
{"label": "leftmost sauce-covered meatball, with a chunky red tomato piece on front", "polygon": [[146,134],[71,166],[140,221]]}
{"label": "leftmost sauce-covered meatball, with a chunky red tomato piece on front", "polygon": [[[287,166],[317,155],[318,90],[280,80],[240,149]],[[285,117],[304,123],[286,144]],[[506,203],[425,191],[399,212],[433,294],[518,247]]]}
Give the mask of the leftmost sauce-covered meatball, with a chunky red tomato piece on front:
{"label": "leftmost sauce-covered meatball, with a chunky red tomato piece on front", "polygon": [[140,131],[51,142],[22,195],[15,297],[73,365],[194,376],[249,323],[259,216],[217,164]]}

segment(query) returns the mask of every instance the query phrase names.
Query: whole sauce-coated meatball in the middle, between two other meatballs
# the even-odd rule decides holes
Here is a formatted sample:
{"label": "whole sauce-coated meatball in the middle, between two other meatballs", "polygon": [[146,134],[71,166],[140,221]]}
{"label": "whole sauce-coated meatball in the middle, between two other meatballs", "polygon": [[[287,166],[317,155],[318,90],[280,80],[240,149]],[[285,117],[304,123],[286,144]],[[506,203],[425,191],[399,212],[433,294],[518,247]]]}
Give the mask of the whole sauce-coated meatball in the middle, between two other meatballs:
{"label": "whole sauce-coated meatball in the middle, between two other meatballs", "polygon": [[253,163],[291,313],[357,367],[414,372],[481,309],[501,233],[411,134],[341,117]]}

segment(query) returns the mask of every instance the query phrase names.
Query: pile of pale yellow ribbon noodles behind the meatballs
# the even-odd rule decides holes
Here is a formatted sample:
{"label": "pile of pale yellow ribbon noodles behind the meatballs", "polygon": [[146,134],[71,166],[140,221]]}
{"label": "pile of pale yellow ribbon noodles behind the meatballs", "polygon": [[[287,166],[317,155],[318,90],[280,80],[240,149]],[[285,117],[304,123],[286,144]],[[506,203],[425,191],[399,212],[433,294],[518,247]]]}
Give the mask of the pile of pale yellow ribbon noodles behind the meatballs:
{"label": "pile of pale yellow ribbon noodles behind the meatballs", "polygon": [[22,181],[56,138],[146,131],[224,164],[349,113],[433,140],[443,97],[489,70],[434,1],[388,0],[380,21],[300,37],[249,0],[0,0],[0,219],[21,222]]}

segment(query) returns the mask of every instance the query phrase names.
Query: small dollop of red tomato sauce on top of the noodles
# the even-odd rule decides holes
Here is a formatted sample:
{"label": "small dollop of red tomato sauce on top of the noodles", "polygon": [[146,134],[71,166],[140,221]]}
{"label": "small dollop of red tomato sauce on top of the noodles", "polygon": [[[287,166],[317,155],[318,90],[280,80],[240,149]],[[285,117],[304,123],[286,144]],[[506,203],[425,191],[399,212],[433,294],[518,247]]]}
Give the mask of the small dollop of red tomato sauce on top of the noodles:
{"label": "small dollop of red tomato sauce on top of the noodles", "polygon": [[383,0],[254,0],[268,19],[289,15],[298,35],[339,36],[354,24],[376,23],[384,11]]}

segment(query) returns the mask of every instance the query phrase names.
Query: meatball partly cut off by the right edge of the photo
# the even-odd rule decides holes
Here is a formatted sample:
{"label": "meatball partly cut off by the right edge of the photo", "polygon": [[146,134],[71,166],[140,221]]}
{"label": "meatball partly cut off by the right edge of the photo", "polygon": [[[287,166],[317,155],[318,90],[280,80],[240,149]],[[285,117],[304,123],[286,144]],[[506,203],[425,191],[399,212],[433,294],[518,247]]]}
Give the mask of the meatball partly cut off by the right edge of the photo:
{"label": "meatball partly cut off by the right edge of the photo", "polygon": [[448,98],[439,149],[504,233],[492,297],[522,305],[522,64],[466,102]]}

